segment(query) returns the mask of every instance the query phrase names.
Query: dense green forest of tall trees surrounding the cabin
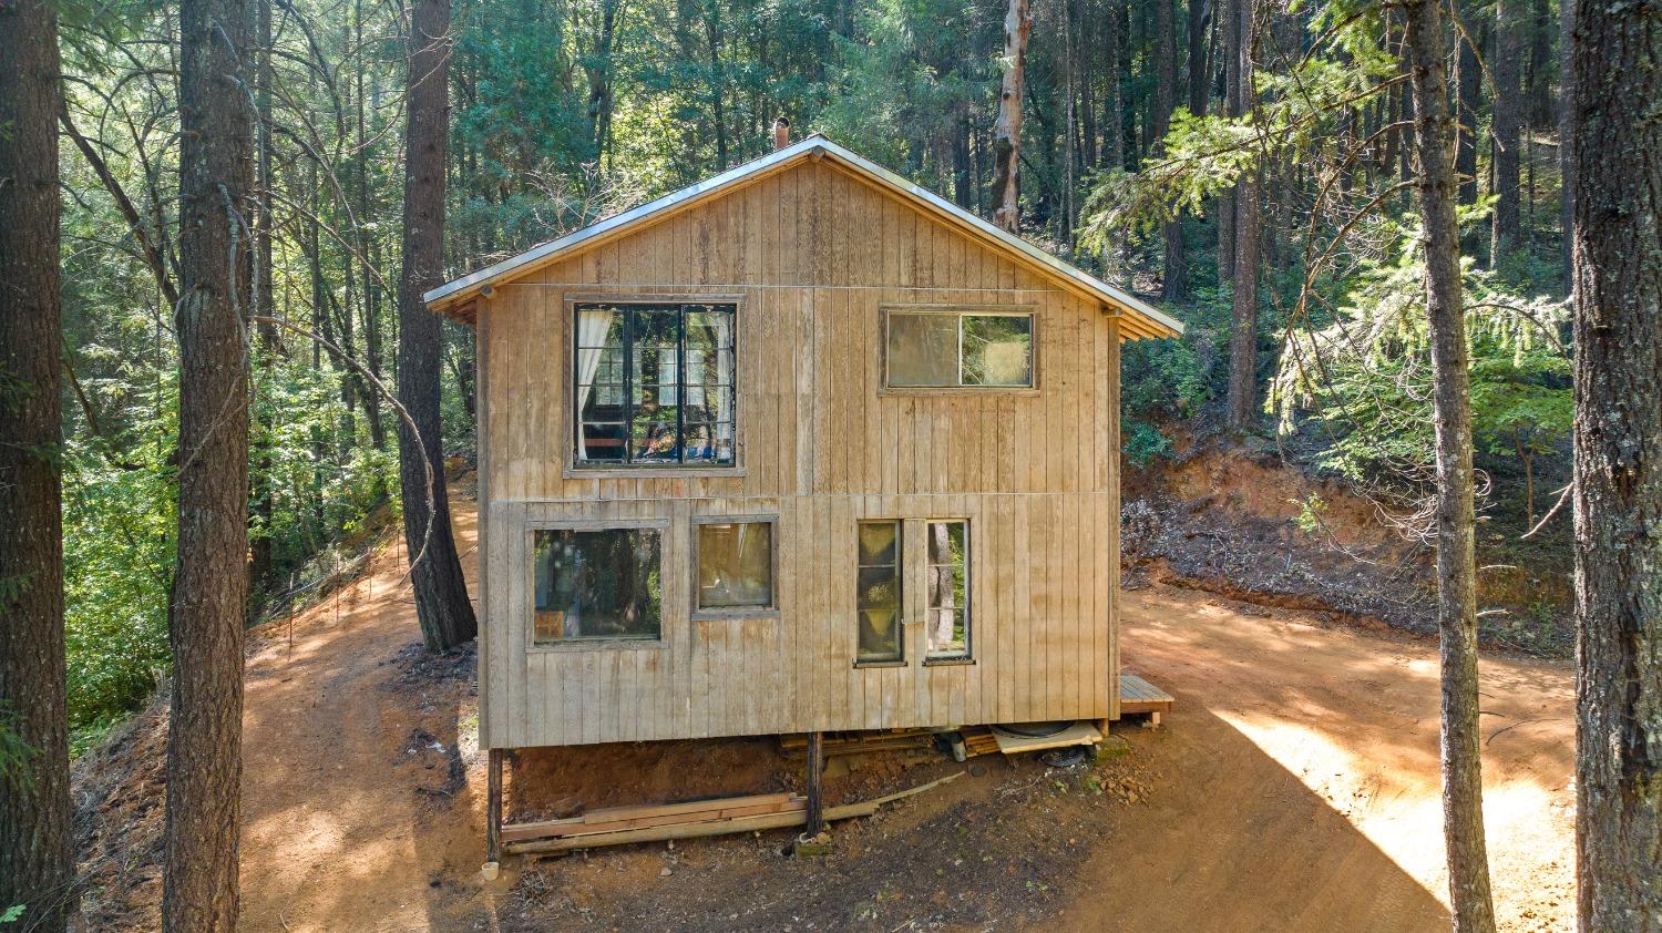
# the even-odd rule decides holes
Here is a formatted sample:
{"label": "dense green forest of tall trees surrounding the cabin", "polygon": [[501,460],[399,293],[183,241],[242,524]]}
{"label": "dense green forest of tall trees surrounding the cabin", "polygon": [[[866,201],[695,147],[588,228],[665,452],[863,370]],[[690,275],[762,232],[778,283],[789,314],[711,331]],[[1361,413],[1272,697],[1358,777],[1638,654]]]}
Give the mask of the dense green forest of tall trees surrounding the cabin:
{"label": "dense green forest of tall trees surrounding the cabin", "polygon": [[[198,775],[168,803],[218,827],[170,835],[170,928],[229,928],[241,629],[402,519],[427,645],[472,637],[445,479],[475,459],[474,334],[420,293],[763,156],[784,118],[1187,324],[1125,349],[1128,466],[1197,434],[1275,451],[1434,549],[1456,928],[1494,925],[1479,639],[1579,639],[1605,684],[1579,707],[1579,818],[1605,820],[1582,928],[1662,923],[1659,23],[1591,0],[0,3],[0,916],[73,900],[61,817],[32,828],[66,778],[35,763],[160,689],[170,768]],[[1551,585],[1496,597],[1501,565]]]}

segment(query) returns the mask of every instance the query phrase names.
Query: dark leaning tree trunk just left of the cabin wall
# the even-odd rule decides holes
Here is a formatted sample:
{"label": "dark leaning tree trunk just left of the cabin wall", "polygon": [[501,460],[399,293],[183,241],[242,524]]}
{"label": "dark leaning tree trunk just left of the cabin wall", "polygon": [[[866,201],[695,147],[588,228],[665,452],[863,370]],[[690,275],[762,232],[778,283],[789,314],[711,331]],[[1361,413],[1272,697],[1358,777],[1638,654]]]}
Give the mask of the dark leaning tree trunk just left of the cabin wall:
{"label": "dark leaning tree trunk just left of the cabin wall", "polygon": [[[442,652],[479,632],[450,532],[439,437],[439,316],[422,293],[444,281],[444,151],[449,136],[450,0],[416,0],[409,40],[409,133],[404,156],[404,274],[399,279],[399,402],[419,437],[399,424],[404,541],[412,557],[416,615],[427,649]],[[424,464],[425,461],[425,464]],[[427,474],[432,472],[429,501]],[[430,526],[430,532],[429,532]],[[420,555],[420,560],[414,560]]]}

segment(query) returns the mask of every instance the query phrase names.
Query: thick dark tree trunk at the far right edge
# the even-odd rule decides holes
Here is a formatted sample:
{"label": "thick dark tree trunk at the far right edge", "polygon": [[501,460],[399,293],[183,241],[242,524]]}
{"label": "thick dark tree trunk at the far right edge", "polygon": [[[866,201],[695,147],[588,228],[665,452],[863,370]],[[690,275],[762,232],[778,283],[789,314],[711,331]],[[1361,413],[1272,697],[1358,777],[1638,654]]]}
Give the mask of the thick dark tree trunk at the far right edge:
{"label": "thick dark tree trunk at the far right edge", "polygon": [[1574,15],[1577,915],[1662,930],[1662,18]]}

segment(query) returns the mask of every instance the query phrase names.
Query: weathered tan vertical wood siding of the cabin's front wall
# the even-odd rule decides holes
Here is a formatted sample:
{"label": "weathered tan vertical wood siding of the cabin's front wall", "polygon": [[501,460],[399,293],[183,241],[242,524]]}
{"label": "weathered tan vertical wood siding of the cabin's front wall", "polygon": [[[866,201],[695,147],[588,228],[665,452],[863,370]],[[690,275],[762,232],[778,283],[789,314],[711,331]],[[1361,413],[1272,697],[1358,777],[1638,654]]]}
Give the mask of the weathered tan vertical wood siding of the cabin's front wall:
{"label": "weathered tan vertical wood siding of the cabin's front wall", "polygon": [[[738,301],[740,467],[573,474],[568,299]],[[1037,389],[881,391],[881,308],[1035,316]],[[1107,718],[1119,669],[1119,331],[1102,309],[826,163],[505,284],[477,311],[480,733],[570,745]],[[691,519],[778,516],[779,612],[691,619]],[[971,522],[972,665],[854,667],[856,522],[899,519],[922,619],[922,521]],[[530,647],[530,529],[663,522],[663,637]]]}

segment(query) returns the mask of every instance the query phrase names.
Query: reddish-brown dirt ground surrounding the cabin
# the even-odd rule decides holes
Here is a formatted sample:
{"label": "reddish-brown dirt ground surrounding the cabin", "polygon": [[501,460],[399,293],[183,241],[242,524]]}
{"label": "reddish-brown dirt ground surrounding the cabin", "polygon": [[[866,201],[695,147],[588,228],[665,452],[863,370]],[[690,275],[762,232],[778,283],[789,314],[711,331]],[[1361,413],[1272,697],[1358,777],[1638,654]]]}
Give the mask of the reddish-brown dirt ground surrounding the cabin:
{"label": "reddish-brown dirt ground surrounding the cabin", "polygon": [[[457,507],[472,575],[474,514]],[[492,883],[479,873],[474,659],[422,655],[401,555],[294,619],[293,640],[286,622],[258,639],[241,850],[241,926],[254,933],[1448,926],[1436,647],[1391,630],[1152,584],[1125,594],[1124,657],[1177,708],[1160,730],[1119,728],[1124,755],[1074,770],[976,758],[979,773],[839,825],[829,858],[784,858],[789,833],[773,832],[509,863]],[[1507,930],[1567,930],[1571,674],[1491,659],[1483,677],[1497,913]],[[663,790],[771,755],[755,742],[553,752],[525,780],[558,780],[595,807],[627,802],[618,772]],[[856,772],[844,792],[954,770]],[[160,777],[133,772],[146,787]],[[750,765],[733,777],[733,792],[798,780]],[[80,793],[103,820],[88,926],[155,926],[153,840],[135,843],[143,832],[123,820],[156,825],[160,800],[91,777]]]}

